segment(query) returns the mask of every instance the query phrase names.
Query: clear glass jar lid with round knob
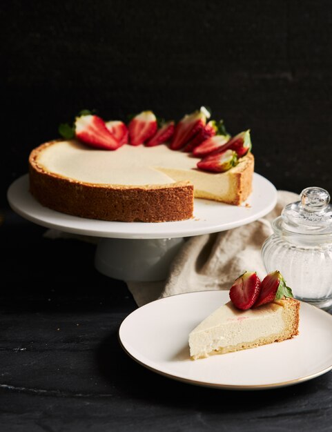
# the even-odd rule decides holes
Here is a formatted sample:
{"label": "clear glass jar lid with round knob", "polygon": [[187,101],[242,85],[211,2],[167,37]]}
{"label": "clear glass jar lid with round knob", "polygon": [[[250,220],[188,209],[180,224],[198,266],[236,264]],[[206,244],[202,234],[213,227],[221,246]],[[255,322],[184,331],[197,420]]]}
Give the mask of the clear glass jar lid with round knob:
{"label": "clear glass jar lid with round knob", "polygon": [[327,190],[310,187],[302,190],[300,201],[282,210],[280,228],[295,234],[332,234],[332,205]]}

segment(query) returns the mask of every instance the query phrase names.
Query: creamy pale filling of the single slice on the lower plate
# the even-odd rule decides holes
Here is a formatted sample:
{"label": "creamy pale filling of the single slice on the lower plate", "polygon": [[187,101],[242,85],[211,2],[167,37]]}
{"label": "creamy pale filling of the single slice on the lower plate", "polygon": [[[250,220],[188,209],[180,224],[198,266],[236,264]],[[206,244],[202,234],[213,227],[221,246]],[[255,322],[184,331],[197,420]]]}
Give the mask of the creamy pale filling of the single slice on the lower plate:
{"label": "creamy pale filling of the single slice on the lower plate", "polygon": [[226,346],[253,342],[260,337],[280,333],[283,328],[280,305],[267,304],[257,309],[238,311],[228,302],[190,333],[191,356],[203,357]]}

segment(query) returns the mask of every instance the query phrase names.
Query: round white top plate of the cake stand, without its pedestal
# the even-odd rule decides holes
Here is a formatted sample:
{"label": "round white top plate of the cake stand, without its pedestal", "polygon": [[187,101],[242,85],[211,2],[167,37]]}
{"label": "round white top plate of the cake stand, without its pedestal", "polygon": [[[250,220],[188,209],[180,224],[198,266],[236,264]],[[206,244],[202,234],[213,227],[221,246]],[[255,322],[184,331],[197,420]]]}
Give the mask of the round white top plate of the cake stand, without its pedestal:
{"label": "round white top plate of the cake stand, without its pedestal", "polygon": [[19,215],[48,228],[97,237],[164,239],[217,233],[253,222],[273,209],[277,202],[277,190],[270,181],[255,173],[253,193],[242,206],[195,199],[193,219],[162,224],[107,222],[50,210],[41,206],[29,193],[28,175],[12,183],[8,189],[8,201]]}

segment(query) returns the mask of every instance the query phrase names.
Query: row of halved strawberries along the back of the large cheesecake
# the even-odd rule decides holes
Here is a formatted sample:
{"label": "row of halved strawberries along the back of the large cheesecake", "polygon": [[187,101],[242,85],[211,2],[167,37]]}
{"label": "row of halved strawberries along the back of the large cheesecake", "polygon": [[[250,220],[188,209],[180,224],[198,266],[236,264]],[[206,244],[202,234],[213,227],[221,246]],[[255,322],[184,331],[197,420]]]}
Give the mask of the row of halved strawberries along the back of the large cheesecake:
{"label": "row of halved strawberries along the back of the large cheesecake", "polygon": [[224,173],[236,166],[251,151],[250,130],[235,136],[226,132],[224,121],[209,120],[211,112],[202,106],[178,122],[159,120],[151,110],[139,112],[128,124],[120,120],[104,121],[83,110],[72,126],[61,124],[59,133],[65,139],[76,138],[101,150],[117,150],[124,144],[147,147],[168,144],[171,150],[199,157],[197,168]]}

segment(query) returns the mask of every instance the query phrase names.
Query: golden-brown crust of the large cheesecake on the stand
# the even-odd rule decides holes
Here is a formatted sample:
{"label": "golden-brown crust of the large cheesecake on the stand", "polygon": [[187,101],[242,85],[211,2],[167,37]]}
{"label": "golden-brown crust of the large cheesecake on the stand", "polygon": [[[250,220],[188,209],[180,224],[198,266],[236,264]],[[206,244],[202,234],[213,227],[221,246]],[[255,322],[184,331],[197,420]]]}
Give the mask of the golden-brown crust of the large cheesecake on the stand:
{"label": "golden-brown crust of the large cheesecake on the stand", "polygon": [[[254,160],[251,154],[242,158],[238,166],[217,174],[227,178],[229,185],[226,194],[217,197],[195,188],[186,175],[170,176],[174,182],[169,184],[128,186],[92,184],[50,172],[39,164],[38,157],[44,149],[61,141],[48,141],[32,150],[29,188],[40,204],[68,215],[118,222],[173,222],[193,218],[194,197],[240,205],[251,193]],[[220,177],[214,178],[217,181]]]}

